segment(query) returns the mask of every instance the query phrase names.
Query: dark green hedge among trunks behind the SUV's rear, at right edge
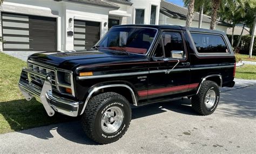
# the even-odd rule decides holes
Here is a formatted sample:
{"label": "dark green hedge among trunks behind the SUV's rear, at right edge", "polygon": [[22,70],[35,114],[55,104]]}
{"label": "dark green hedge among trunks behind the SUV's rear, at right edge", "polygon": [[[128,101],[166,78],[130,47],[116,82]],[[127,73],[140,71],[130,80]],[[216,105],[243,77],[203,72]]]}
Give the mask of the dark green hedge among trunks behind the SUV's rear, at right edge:
{"label": "dark green hedge among trunks behind the SUV's rear, at right edge", "polygon": [[[231,42],[231,37],[232,35],[227,35],[228,39]],[[237,45],[239,36],[234,36],[234,44],[233,46]],[[240,42],[240,52],[241,54],[249,54],[249,50],[250,50],[250,43],[251,43],[251,36],[242,36],[241,38],[241,42]],[[252,48],[252,55],[256,55],[256,37],[254,37],[254,44],[253,44],[253,48]]]}

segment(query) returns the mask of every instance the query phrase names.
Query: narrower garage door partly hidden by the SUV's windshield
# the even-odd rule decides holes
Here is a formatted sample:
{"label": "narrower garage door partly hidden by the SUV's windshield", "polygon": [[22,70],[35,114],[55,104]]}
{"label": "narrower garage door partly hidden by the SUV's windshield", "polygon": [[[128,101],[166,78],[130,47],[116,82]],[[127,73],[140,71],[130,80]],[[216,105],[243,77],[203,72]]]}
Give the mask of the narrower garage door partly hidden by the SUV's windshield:
{"label": "narrower garage door partly hidden by the SUV's windshield", "polygon": [[90,49],[100,36],[100,23],[74,20],[74,49]]}

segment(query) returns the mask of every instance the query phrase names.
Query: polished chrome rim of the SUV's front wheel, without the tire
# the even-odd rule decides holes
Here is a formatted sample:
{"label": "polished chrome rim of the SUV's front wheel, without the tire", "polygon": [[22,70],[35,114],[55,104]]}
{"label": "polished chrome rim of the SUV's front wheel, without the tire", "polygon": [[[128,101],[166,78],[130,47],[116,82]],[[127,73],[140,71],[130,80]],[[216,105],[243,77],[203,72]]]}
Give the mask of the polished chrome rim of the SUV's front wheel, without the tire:
{"label": "polished chrome rim of the SUV's front wheel, without the tire", "polygon": [[123,110],[119,107],[111,107],[102,116],[102,130],[108,134],[116,132],[124,120]]}

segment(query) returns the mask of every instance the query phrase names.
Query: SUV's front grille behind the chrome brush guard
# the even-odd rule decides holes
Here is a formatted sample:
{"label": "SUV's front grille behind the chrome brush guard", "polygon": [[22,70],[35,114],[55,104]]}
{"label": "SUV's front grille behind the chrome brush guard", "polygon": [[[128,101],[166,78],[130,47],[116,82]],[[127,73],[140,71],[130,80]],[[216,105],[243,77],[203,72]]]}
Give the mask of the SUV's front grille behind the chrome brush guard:
{"label": "SUV's front grille behind the chrome brush guard", "polygon": [[[40,65],[36,65],[36,64],[32,64],[30,62],[28,62],[28,69],[30,69],[33,72],[36,73],[40,73],[43,75],[51,75],[51,83],[52,83],[52,89],[57,91],[57,86],[56,86],[56,74],[55,74],[55,70],[51,67],[47,67],[47,66],[40,66]],[[37,75],[33,75],[33,74],[29,74],[30,75],[30,79],[33,83],[37,83],[39,85],[41,85],[43,87],[44,85],[44,78],[41,78]]]}

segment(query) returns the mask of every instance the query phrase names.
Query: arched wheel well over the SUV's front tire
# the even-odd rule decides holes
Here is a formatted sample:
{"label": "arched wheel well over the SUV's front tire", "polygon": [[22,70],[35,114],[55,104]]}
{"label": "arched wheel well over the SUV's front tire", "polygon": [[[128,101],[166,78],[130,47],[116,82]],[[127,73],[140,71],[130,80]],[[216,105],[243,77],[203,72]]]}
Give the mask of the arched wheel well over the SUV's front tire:
{"label": "arched wheel well over the SUV's front tire", "polygon": [[133,99],[132,99],[131,91],[128,88],[126,88],[126,87],[107,87],[107,88],[102,88],[102,89],[98,90],[98,92],[93,93],[92,97],[96,96],[98,94],[106,93],[106,92],[114,92],[114,93],[123,95],[129,101],[129,103],[133,104]]}

